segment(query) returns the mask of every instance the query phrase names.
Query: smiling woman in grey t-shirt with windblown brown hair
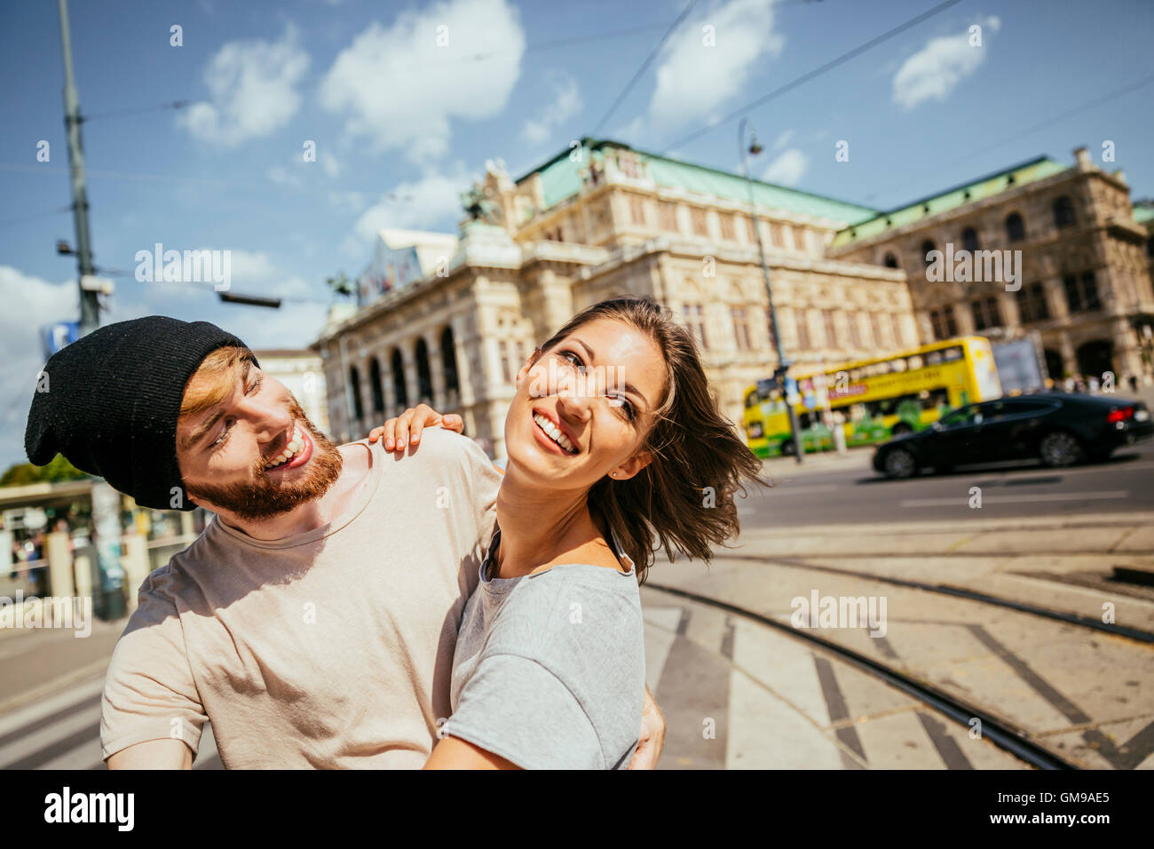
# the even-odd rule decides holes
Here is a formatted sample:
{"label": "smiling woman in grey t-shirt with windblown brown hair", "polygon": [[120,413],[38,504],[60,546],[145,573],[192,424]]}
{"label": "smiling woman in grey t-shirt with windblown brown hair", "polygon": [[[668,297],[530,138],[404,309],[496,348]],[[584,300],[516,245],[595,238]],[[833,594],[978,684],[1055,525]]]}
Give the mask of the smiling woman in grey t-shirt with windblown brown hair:
{"label": "smiling woman in grey t-shirt with windblown brown hair", "polygon": [[652,298],[578,313],[516,386],[497,527],[427,766],[625,768],[645,685],[638,584],[655,546],[709,560],[734,536],[760,462]]}

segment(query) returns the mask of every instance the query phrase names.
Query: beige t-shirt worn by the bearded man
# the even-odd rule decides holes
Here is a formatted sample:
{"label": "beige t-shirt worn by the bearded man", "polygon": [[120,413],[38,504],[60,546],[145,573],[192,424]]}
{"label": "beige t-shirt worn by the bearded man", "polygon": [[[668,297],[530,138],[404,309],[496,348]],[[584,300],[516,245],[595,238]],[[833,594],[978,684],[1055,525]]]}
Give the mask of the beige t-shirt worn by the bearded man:
{"label": "beige t-shirt worn by the bearded man", "polygon": [[339,519],[276,542],[213,519],[145,579],[105,680],[105,759],[170,737],[195,753],[208,718],[227,768],[425,764],[501,476],[440,427],[400,460],[369,450]]}

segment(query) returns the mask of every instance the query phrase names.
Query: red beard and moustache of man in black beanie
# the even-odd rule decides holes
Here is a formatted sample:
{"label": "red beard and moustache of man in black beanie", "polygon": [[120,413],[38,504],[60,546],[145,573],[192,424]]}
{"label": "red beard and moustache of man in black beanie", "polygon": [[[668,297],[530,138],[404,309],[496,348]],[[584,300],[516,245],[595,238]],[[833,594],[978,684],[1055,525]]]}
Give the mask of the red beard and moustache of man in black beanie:
{"label": "red beard and moustache of man in black beanie", "polygon": [[253,467],[248,483],[188,486],[188,497],[193,501],[207,501],[212,507],[234,513],[239,519],[255,522],[287,513],[328,492],[340,477],[344,459],[337,446],[308,420],[295,400],[290,404],[288,411],[295,424],[307,430],[313,440],[313,454],[305,464],[304,477],[297,481],[273,481],[267,468],[272,457],[268,457]]}

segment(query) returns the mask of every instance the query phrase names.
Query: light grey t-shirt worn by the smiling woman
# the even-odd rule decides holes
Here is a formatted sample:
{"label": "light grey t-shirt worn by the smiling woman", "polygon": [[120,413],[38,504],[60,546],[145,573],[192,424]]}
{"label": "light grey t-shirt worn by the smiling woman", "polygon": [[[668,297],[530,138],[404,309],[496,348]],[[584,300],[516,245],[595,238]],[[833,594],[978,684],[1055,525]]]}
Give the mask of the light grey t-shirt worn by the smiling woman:
{"label": "light grey t-shirt worn by the smiling woman", "polygon": [[440,736],[525,769],[628,768],[645,693],[632,561],[621,554],[629,572],[563,564],[488,580],[500,538],[462,616]]}

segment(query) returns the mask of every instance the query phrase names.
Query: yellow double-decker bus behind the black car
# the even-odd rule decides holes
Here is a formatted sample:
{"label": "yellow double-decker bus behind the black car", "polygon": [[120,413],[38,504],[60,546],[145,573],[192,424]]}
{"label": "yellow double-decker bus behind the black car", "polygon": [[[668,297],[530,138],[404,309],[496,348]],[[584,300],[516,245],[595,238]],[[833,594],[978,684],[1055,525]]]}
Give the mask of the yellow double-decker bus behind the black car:
{"label": "yellow double-decker bus behind the black car", "polygon": [[[834,422],[841,420],[850,447],[920,431],[954,408],[1002,395],[994,352],[982,336],[790,377],[797,381],[794,409],[807,452],[834,447],[830,417],[824,415],[823,382],[829,409]],[[786,402],[772,380],[759,380],[745,390],[744,426],[749,447],[758,456],[793,453]]]}

